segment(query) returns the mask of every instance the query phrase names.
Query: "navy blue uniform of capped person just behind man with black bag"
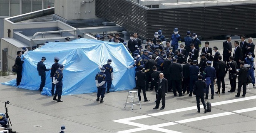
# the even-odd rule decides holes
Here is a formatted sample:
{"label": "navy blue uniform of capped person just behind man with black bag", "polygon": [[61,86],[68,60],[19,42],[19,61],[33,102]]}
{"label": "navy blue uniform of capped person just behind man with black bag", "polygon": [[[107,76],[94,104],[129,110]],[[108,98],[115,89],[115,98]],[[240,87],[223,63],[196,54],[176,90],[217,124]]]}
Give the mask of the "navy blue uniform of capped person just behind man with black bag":
{"label": "navy blue uniform of capped person just behind man with black bag", "polygon": [[206,86],[206,97],[209,94],[209,86],[211,87],[211,96],[214,95],[214,80],[216,79],[216,71],[214,67],[207,66],[204,69],[205,72],[205,78],[210,78],[211,84]]}

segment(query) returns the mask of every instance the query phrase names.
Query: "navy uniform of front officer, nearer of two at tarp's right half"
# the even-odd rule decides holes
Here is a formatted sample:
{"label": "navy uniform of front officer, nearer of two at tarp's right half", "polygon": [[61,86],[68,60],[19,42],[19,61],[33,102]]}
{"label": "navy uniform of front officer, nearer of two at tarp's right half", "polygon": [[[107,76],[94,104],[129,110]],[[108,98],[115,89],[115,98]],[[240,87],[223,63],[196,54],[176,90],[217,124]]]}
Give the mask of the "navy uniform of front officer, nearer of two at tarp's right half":
{"label": "navy uniform of front officer, nearer of two at tarp's right half", "polygon": [[[104,74],[103,72],[97,73],[95,76],[95,80],[97,80],[99,82],[99,84],[102,81],[106,82],[107,81],[106,74]],[[98,89],[97,97],[99,97],[101,95],[101,97],[104,98],[105,91],[106,91],[106,83],[104,83],[102,86],[97,87],[97,89]]]}

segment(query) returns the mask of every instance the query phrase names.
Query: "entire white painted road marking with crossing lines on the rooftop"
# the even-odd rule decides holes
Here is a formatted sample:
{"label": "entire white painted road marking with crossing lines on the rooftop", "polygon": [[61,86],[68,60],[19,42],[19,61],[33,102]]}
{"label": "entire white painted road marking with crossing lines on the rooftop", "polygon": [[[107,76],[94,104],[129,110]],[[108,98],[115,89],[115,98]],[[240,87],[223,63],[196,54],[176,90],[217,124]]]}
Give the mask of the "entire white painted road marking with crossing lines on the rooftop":
{"label": "entire white painted road marking with crossing lines on the rooftop", "polygon": [[[222,104],[227,104],[227,103],[234,103],[234,102],[239,102],[239,101],[246,101],[246,100],[251,100],[251,99],[256,99],[256,96],[250,96],[250,97],[244,97],[244,98],[240,98],[240,99],[233,99],[233,100],[211,103],[211,106],[217,106],[217,105],[222,105]],[[200,107],[203,108],[202,105]],[[255,111],[256,110],[256,107],[245,108],[245,109],[236,110],[236,111],[232,111],[232,112],[217,113],[217,114],[213,114],[213,115],[200,116],[200,117],[196,117],[196,118],[189,118],[189,119],[185,119],[185,120],[181,120],[181,121],[175,121],[176,123],[168,122],[168,123],[161,123],[161,124],[151,125],[151,126],[131,122],[133,120],[138,120],[138,119],[142,119],[142,118],[149,118],[151,116],[161,116],[161,115],[166,115],[166,114],[170,114],[170,113],[189,111],[189,110],[193,110],[195,108],[196,108],[196,106],[187,107],[187,108],[179,108],[179,109],[175,109],[175,110],[171,110],[171,111],[152,113],[152,114],[149,114],[150,116],[142,115],[142,116],[135,116],[135,117],[130,117],[130,118],[114,120],[114,122],[139,127],[139,128],[133,128],[133,129],[129,129],[129,130],[119,131],[117,133],[133,133],[133,132],[144,131],[144,130],[149,130],[149,129],[164,132],[164,133],[181,133],[181,132],[177,132],[177,131],[171,131],[171,130],[168,130],[168,129],[164,129],[164,128],[161,128],[161,127],[176,125],[177,123],[187,123],[187,122],[192,122],[192,121],[199,121],[199,120],[204,120],[204,119],[209,119],[209,118],[227,116],[227,115],[231,115],[231,114],[235,114],[235,113],[243,113],[243,112]],[[233,112],[235,112],[235,113],[233,113]]]}

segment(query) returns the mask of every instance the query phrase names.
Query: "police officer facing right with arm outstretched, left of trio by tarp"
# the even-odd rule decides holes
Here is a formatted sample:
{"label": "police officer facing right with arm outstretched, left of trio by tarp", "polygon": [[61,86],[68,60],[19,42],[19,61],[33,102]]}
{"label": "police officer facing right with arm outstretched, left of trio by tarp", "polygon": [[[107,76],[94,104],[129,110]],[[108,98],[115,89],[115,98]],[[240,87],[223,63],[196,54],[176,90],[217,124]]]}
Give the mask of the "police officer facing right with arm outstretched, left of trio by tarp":
{"label": "police officer facing right with arm outstretched, left of trio by tarp", "polygon": [[46,58],[42,57],[41,61],[37,63],[37,71],[38,71],[38,75],[41,76],[41,84],[40,84],[40,88],[39,90],[42,91],[42,89],[45,86],[45,79],[46,79],[46,74],[45,71],[49,71],[50,69],[46,69],[45,67],[45,62]]}

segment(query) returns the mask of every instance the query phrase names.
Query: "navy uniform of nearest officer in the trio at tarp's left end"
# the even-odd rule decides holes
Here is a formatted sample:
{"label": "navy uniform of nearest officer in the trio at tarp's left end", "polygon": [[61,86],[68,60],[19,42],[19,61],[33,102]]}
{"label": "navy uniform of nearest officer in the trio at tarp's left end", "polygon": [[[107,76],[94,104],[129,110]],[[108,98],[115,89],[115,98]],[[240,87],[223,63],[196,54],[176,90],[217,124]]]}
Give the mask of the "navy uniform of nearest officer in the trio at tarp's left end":
{"label": "navy uniform of nearest officer in the trio at tarp's left end", "polygon": [[55,96],[58,95],[58,96],[61,96],[62,94],[62,86],[63,86],[63,83],[62,83],[62,79],[63,79],[63,72],[62,70],[58,69],[55,74],[54,74],[54,77],[57,81],[59,81],[56,85],[56,91],[55,91]]}

